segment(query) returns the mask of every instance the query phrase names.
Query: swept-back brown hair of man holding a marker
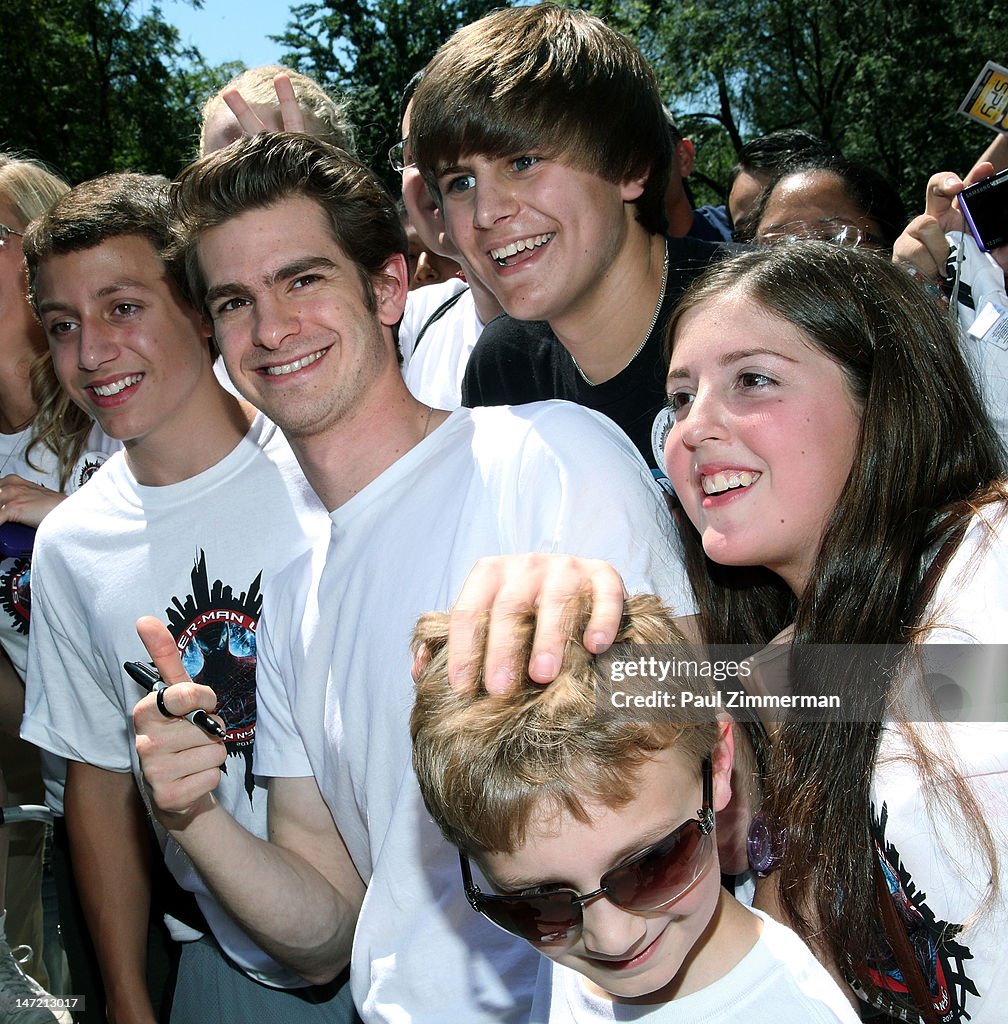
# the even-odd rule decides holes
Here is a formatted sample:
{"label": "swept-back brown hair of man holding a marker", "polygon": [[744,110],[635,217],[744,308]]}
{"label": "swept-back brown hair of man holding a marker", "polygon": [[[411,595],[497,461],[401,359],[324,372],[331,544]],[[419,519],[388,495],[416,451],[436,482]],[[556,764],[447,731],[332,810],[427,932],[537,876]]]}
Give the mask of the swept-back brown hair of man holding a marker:
{"label": "swept-back brown hair of man holding a marker", "polygon": [[359,160],[299,132],[240,138],[190,164],[176,179],[172,256],[184,265],[199,308],[207,292],[200,236],[248,210],[301,196],[322,207],[333,239],[356,268],[369,309],[377,309],[375,279],[390,256],[409,251],[395,203]]}

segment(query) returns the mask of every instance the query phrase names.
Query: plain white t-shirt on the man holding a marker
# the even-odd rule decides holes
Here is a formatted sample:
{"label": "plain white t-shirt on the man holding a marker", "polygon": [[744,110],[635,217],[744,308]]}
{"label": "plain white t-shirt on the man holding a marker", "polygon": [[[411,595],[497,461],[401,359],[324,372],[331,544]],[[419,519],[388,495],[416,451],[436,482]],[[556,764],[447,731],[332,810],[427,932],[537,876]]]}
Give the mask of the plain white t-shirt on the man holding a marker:
{"label": "plain white t-shirt on the man holding a marker", "polygon": [[368,883],[351,985],[365,1021],[524,1021],[535,951],[474,913],[413,775],[410,638],[484,555],[604,558],[684,611],[668,509],[605,417],[458,410],[332,513],[328,549],[266,595],[256,771],[314,775]]}

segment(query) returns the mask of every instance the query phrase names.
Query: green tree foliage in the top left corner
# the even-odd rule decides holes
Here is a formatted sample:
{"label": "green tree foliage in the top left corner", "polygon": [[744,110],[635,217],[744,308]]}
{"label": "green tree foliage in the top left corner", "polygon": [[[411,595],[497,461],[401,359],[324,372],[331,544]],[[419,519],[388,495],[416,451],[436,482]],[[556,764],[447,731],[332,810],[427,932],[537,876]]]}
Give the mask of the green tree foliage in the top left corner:
{"label": "green tree foliage in the top left corner", "polygon": [[181,46],[156,5],[7,0],[0,145],[72,181],[119,170],[174,175],[195,154],[201,101],[233,72]]}

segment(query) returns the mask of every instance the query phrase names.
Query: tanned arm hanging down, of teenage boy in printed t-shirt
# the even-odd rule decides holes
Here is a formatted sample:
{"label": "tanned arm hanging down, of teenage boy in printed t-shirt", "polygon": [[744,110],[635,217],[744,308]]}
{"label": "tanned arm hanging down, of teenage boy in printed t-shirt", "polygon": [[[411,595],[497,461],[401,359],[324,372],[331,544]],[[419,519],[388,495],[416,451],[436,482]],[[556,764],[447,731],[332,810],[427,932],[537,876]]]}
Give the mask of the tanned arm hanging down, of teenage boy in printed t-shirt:
{"label": "tanned arm hanging down, of teenage boy in printed t-shirt", "polygon": [[151,851],[136,783],[128,772],[69,761],[64,806],[110,1024],[154,1024],[146,986]]}

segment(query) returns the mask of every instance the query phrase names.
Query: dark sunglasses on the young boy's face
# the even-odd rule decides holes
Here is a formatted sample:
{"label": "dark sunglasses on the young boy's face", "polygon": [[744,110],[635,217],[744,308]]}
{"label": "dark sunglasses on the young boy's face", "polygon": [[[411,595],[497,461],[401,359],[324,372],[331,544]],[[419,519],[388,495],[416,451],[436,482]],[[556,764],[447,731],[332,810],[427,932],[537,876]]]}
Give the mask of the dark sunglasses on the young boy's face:
{"label": "dark sunglasses on the young boy's face", "polygon": [[660,910],[684,896],[704,874],[714,846],[714,782],[710,758],[704,761],[704,805],[696,818],[684,821],[665,839],[635,853],[606,871],[599,887],[582,896],[573,889],[555,889],[532,896],[496,896],[480,892],[472,881],[469,859],[459,851],[462,883],[473,910],[498,928],[534,946],[570,946],[584,924],[584,904],[597,896],[624,910]]}

